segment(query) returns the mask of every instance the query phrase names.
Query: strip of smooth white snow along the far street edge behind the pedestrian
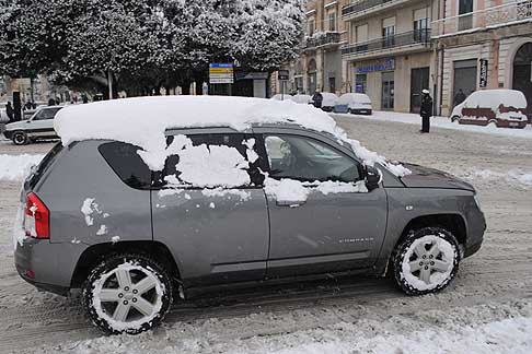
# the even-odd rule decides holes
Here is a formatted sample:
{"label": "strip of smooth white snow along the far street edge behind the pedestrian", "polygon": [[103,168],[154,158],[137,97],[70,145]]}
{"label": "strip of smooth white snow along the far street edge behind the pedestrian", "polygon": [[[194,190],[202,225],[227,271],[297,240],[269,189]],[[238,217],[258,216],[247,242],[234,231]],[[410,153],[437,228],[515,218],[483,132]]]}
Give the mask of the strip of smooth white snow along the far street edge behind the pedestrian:
{"label": "strip of smooth white snow along the far street edge behind the pedestrian", "polygon": [[[351,119],[371,119],[375,121],[394,121],[407,125],[417,125],[420,127],[421,118],[415,114],[403,114],[395,111],[373,111],[371,116],[362,115],[337,115],[333,114],[333,117],[351,118]],[[528,125],[524,129],[510,129],[510,128],[497,128],[497,127],[479,127],[471,125],[460,125],[458,122],[451,122],[449,117],[432,117],[430,118],[430,126],[437,128],[446,128],[453,130],[462,130],[467,132],[478,132],[484,134],[499,135],[499,137],[516,137],[532,139],[532,126]]]}

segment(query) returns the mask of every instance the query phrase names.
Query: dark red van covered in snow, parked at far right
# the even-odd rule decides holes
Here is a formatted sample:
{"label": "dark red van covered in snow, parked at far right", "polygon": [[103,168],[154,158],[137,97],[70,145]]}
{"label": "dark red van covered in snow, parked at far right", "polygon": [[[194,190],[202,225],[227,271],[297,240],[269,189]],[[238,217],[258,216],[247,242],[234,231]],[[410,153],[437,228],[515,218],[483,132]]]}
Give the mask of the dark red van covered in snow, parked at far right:
{"label": "dark red van covered in snow, parked at far right", "polygon": [[517,90],[475,91],[451,113],[451,121],[461,125],[487,126],[499,128],[524,128],[527,98]]}

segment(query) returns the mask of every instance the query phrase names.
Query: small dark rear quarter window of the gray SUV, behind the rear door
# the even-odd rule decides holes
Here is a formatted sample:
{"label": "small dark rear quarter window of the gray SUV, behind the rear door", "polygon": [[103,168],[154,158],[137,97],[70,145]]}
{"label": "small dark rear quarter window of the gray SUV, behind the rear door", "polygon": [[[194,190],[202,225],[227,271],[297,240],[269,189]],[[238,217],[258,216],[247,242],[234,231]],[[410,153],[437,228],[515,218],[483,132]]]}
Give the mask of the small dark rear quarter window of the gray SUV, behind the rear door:
{"label": "small dark rear quarter window of the gray SUV, behind the rear door", "polygon": [[139,146],[123,142],[100,145],[99,151],[123,182],[136,189],[150,189],[151,170],[140,158]]}

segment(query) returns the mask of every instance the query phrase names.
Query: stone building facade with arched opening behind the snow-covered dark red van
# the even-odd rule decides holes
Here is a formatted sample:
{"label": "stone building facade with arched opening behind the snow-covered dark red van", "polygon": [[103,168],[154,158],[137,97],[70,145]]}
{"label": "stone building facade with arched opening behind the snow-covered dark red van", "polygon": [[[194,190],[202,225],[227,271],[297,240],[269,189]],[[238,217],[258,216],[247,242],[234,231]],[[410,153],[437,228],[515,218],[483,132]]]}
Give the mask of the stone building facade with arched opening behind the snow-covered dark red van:
{"label": "stone building facade with arched opening behind the snow-covered dark red van", "polygon": [[514,88],[532,114],[532,0],[441,0],[432,24],[440,63],[440,114],[462,91]]}

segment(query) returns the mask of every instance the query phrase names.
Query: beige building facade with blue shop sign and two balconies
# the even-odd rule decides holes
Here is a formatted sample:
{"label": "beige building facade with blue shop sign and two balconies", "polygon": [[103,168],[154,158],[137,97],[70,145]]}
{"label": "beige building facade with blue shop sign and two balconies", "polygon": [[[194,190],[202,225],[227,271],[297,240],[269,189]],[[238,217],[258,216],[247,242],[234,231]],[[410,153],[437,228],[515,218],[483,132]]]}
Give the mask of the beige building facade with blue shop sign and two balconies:
{"label": "beige building facade with blue shop sign and two balconies", "polygon": [[358,0],[342,9],[347,92],[366,93],[379,110],[418,113],[421,90],[433,92],[432,0]]}

